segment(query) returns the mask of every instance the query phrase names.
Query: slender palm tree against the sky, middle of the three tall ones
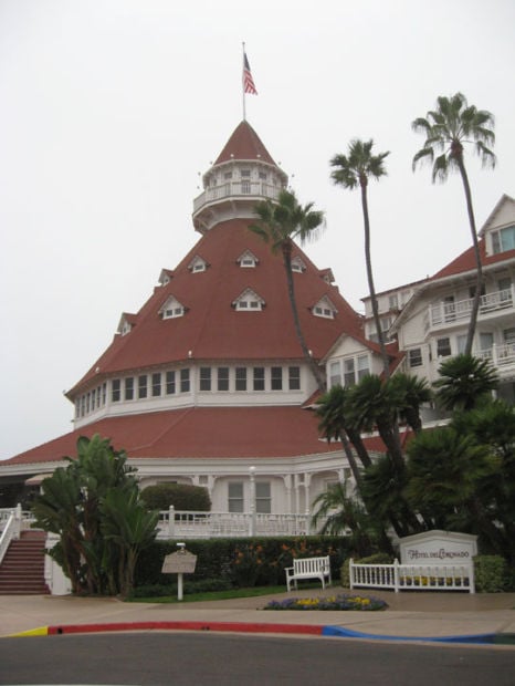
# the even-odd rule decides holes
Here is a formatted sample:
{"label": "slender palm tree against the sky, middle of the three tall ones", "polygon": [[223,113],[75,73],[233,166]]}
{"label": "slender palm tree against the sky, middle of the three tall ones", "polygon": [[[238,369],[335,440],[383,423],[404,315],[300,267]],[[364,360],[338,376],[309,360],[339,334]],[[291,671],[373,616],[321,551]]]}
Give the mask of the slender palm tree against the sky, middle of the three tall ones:
{"label": "slender palm tree against the sky, middle of the three tall ones", "polygon": [[381,351],[382,366],[385,376],[390,375],[390,365],[385,346],[385,336],[379,321],[379,308],[376,298],[376,288],[374,285],[372,263],[370,257],[370,220],[368,216],[368,198],[367,188],[369,178],[379,179],[386,176],[385,158],[390,153],[380,153],[372,155],[374,141],[354,139],[348,146],[347,155],[335,155],[330,160],[332,167],[335,167],[330,178],[338,186],[343,186],[353,190],[357,186],[361,189],[361,208],[365,226],[365,261],[367,264],[368,289],[370,291],[370,301],[372,305],[374,322],[376,324],[377,339]]}

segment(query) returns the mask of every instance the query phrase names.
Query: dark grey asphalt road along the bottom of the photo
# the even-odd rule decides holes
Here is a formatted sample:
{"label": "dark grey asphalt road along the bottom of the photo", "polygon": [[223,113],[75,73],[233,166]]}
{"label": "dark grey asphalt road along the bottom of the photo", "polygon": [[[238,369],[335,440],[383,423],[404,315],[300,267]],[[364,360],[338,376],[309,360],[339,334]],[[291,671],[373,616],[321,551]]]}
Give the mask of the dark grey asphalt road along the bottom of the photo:
{"label": "dark grey asphalt road along the bottom of the photo", "polygon": [[514,686],[515,651],[197,633],[0,638],[0,684]]}

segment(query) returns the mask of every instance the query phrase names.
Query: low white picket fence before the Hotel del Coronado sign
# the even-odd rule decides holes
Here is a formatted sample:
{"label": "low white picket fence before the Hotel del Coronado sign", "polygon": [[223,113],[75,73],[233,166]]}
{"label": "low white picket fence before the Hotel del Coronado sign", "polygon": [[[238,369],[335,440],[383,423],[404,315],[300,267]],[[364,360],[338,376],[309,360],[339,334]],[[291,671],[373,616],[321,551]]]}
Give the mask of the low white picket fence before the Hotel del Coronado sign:
{"label": "low white picket fence before the Hotel del Coronado sign", "polygon": [[350,589],[399,591],[469,591],[475,593],[474,565],[466,564],[349,564]]}

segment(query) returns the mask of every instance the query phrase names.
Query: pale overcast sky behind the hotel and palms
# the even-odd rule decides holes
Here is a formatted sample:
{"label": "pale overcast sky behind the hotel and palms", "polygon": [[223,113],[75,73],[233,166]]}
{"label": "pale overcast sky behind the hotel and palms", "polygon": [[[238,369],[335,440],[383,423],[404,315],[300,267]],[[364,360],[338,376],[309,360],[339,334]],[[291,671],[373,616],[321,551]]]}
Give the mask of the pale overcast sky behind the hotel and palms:
{"label": "pale overcast sky behind the hotel and palms", "polygon": [[198,240],[192,200],[246,118],[327,230],[305,247],[361,309],[359,194],[328,160],[391,150],[369,188],[378,290],[470,245],[460,179],[411,172],[410,123],[461,91],[496,117],[494,172],[467,158],[479,226],[515,195],[513,0],[0,0],[0,458],[72,428],[63,397]]}

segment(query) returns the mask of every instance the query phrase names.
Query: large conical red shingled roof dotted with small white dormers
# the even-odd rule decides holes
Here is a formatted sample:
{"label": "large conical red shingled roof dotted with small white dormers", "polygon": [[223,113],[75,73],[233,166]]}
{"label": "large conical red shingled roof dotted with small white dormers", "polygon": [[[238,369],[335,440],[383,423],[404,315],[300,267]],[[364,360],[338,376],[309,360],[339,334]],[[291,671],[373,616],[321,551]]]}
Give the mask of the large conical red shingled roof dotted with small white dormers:
{"label": "large conical red shingled roof dotted with small white dormers", "polygon": [[[187,361],[189,351],[196,361],[301,360],[282,258],[272,254],[270,246],[248,225],[249,220],[233,219],[202,236],[174,270],[169,283],[156,288],[135,315],[137,326],[124,336],[115,335],[69,396],[104,375]],[[255,268],[238,263],[246,249],[259,259]],[[361,319],[338,289],[326,283],[299,248],[294,249],[295,254],[306,264],[303,273],[294,273],[294,281],[301,324],[314,356],[322,358],[341,332],[362,339]],[[188,268],[195,256],[208,262],[206,271],[192,272]],[[261,312],[241,312],[232,306],[246,288],[265,301]],[[171,295],[187,312],[164,320],[159,310]],[[311,312],[324,295],[337,309],[335,319]]]}

